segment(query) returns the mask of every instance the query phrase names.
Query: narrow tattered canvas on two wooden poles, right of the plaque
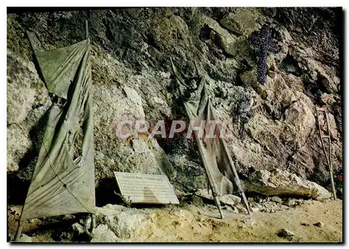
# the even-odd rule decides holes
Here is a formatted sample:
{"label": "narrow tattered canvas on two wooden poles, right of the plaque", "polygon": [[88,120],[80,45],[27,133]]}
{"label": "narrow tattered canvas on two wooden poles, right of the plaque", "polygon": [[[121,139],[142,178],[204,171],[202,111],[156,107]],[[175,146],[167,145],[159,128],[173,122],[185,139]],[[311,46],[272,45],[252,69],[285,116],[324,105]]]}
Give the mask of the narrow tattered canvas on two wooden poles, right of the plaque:
{"label": "narrow tattered canvas on two wooden poles, right of the plaque", "polygon": [[240,195],[242,195],[248,213],[250,213],[234,162],[232,161],[225,140],[220,135],[220,126],[216,126],[214,137],[212,136],[212,138],[210,138],[207,136],[210,134],[209,121],[218,121],[218,119],[216,118],[214,107],[205,89],[205,78],[200,77],[198,68],[196,67],[198,87],[196,89],[191,89],[191,86],[182,80],[172,59],[171,63],[189,121],[195,121],[195,126],[197,127],[200,126],[200,121],[206,121],[204,134],[200,137],[198,133],[194,131],[193,137],[198,146],[202,164],[221,217],[223,218],[223,214],[221,212],[218,196],[232,194],[233,190],[238,190]]}

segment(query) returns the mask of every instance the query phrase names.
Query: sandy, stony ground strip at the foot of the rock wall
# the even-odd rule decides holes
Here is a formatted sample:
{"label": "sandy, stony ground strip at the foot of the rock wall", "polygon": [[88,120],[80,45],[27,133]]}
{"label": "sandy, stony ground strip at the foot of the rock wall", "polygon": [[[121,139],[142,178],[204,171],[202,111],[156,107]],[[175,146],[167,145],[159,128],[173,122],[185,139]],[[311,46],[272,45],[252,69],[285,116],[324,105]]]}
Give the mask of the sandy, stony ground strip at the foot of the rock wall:
{"label": "sandy, stony ground strip at the foot of the rock wall", "polygon": [[[273,201],[274,199],[274,201]],[[248,215],[240,204],[223,207],[184,202],[179,206],[98,208],[97,227],[84,232],[75,216],[33,219],[24,225],[23,242],[341,242],[342,202],[299,199],[249,199]],[[239,211],[240,210],[240,211]],[[9,206],[9,234],[17,229],[20,206]],[[86,219],[85,219],[86,220]]]}

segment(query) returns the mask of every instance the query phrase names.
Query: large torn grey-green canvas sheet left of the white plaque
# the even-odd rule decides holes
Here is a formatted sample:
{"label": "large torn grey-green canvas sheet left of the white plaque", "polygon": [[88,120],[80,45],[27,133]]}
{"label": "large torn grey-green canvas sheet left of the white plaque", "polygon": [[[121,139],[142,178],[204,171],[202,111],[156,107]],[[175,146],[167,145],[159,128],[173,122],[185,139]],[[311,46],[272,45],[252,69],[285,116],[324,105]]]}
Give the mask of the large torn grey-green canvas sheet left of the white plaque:
{"label": "large torn grey-green canvas sheet left of the white plaque", "polygon": [[16,240],[24,220],[95,213],[96,206],[89,39],[35,55],[48,91],[60,101],[48,110]]}

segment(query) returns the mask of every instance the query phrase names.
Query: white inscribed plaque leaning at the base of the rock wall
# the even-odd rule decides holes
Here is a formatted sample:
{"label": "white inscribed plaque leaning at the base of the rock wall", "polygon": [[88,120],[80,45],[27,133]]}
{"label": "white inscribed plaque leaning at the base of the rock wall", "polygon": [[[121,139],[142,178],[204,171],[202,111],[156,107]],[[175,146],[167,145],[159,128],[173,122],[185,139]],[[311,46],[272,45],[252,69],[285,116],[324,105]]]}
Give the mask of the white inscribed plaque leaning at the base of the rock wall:
{"label": "white inscribed plaque leaning at the base of the rock wall", "polygon": [[167,176],[114,172],[121,195],[132,203],[179,204]]}

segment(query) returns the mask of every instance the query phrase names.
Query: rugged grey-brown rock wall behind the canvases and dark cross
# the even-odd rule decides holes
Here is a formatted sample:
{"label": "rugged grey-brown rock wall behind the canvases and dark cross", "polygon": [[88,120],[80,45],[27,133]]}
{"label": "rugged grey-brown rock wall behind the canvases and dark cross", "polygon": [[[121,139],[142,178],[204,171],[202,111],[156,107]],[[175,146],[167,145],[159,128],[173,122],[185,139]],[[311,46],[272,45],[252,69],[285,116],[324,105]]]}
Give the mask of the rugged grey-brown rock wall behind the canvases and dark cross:
{"label": "rugged grey-brown rock wall behind the canvases and dark cross", "polygon": [[[113,171],[166,174],[177,190],[186,193],[207,187],[192,139],[151,138],[147,131],[138,137],[117,136],[117,127],[125,120],[149,121],[153,128],[159,120],[186,121],[170,73],[170,57],[186,77],[194,76],[193,60],[198,62],[218,118],[228,123],[226,140],[239,173],[246,174],[250,167],[277,167],[330,189],[314,113],[315,106],[329,109],[332,164],[335,172],[341,172],[337,12],[330,8],[120,8],[8,14],[7,169],[13,186],[9,195],[17,195],[18,184],[27,193],[45,113],[52,105],[25,31],[35,34],[38,50],[50,50],[83,40],[86,19],[94,82],[98,205],[114,202]],[[324,13],[333,18],[324,18]],[[309,20],[326,38],[313,42],[320,35],[304,30],[299,20]],[[267,80],[260,86],[258,54],[248,44],[248,36],[265,23],[271,23],[281,50],[268,54]],[[253,117],[242,140],[235,115],[240,103],[251,98]],[[306,188],[315,187],[302,191]]]}

